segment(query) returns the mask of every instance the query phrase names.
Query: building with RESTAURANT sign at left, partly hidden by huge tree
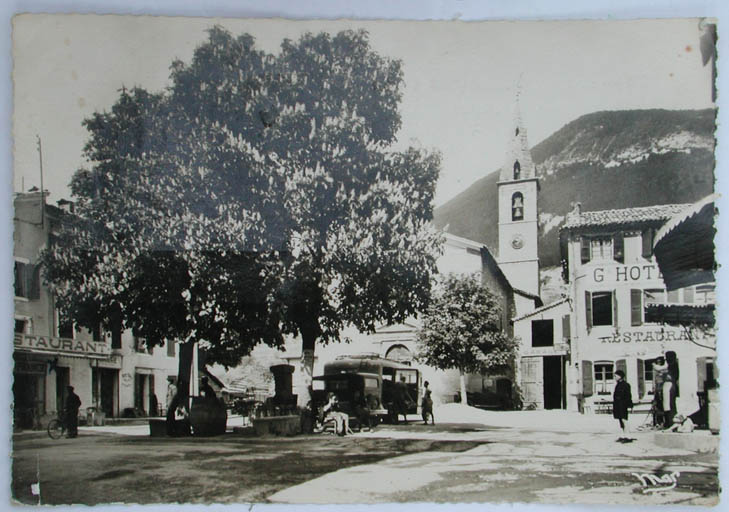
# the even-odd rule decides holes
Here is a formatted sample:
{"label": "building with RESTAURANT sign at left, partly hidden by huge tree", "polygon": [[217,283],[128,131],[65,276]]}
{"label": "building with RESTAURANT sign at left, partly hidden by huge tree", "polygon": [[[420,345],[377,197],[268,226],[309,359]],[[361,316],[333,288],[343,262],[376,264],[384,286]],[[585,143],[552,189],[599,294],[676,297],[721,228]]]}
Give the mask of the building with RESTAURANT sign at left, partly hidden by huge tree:
{"label": "building with RESTAURANT sign at left, partly hidden by huge tree", "polygon": [[147,349],[121,325],[111,332],[76,329],[61,322],[51,290],[42,281],[40,254],[72,204],[46,204],[47,192],[16,194],[13,233],[13,415],[15,428],[43,427],[74,387],[81,412],[107,417],[125,409],[158,415],[167,376],[177,374],[174,343]]}

